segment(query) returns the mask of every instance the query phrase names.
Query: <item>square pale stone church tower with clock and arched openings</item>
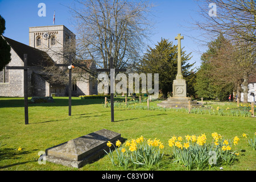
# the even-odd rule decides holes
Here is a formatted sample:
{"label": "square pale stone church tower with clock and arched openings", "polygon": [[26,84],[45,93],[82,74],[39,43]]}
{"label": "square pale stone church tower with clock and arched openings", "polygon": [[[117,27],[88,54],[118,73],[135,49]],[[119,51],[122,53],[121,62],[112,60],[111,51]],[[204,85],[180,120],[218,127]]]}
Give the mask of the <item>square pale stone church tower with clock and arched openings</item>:
{"label": "square pale stone church tower with clock and arched openings", "polygon": [[63,55],[71,47],[75,49],[76,35],[64,25],[29,28],[29,45],[47,52],[57,64],[63,63]]}

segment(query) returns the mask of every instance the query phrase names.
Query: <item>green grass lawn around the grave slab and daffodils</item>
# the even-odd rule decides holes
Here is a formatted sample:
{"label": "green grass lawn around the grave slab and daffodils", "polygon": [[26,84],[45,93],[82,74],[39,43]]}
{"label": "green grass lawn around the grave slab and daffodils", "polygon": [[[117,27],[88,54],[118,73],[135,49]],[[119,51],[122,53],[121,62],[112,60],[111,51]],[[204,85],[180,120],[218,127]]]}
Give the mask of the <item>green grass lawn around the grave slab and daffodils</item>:
{"label": "green grass lawn around the grave slab and daffodils", "polygon": [[[30,99],[30,98],[29,98]],[[240,138],[232,150],[241,150],[237,162],[223,166],[224,170],[256,170],[256,151],[248,144],[243,133],[253,138],[256,118],[231,115],[188,114],[185,111],[130,110],[115,108],[115,121],[111,122],[110,107],[104,107],[104,99],[80,100],[72,98],[72,116],[68,116],[68,97],[54,97],[55,103],[29,104],[29,125],[24,125],[23,98],[0,98],[0,170],[97,170],[112,171],[122,168],[112,166],[107,155],[94,163],[76,169],[47,162],[38,164],[38,152],[68,140],[108,129],[121,133],[125,139],[158,138],[164,144],[164,156],[155,170],[185,170],[174,163],[168,139],[173,135],[207,135],[217,132],[225,138]],[[152,106],[156,103],[152,102]],[[224,103],[212,103],[224,107]],[[230,103],[230,108],[236,103]],[[223,109],[225,109],[223,108]],[[22,150],[18,150],[21,147]],[[213,167],[211,170],[220,170]],[[145,170],[145,168],[136,168]],[[208,170],[208,169],[207,169]]]}

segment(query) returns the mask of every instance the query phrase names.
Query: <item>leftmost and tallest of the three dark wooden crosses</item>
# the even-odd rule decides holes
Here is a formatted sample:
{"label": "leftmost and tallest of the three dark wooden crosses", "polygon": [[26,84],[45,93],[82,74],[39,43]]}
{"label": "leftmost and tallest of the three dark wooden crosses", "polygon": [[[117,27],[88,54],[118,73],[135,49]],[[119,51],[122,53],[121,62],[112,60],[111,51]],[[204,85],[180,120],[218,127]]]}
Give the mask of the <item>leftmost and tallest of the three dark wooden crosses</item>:
{"label": "leftmost and tallest of the three dark wooden crosses", "polygon": [[24,76],[23,76],[23,82],[24,82],[24,111],[25,111],[25,125],[28,125],[28,85],[27,85],[27,70],[28,69],[43,69],[43,67],[38,66],[28,66],[27,65],[27,54],[24,54],[24,67],[6,67],[6,69],[23,69]]}

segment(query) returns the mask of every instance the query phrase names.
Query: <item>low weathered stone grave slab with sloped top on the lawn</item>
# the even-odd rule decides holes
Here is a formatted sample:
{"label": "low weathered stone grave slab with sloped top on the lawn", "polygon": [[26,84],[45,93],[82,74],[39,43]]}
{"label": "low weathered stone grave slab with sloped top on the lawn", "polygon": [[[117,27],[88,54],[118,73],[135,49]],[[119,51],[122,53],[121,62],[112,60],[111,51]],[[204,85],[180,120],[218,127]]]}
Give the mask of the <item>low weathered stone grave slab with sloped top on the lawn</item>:
{"label": "low weathered stone grave slab with sloped top on the lawn", "polygon": [[63,166],[80,168],[106,154],[105,151],[109,151],[106,143],[110,141],[115,144],[118,139],[122,142],[121,134],[102,129],[47,148],[46,160]]}

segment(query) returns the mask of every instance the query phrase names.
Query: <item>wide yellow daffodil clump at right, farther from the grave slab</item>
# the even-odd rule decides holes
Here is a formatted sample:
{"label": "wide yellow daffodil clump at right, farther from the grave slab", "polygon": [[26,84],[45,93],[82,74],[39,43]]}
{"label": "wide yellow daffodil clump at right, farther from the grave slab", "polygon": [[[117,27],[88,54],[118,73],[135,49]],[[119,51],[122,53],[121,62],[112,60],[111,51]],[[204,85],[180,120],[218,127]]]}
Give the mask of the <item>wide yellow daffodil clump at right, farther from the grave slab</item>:
{"label": "wide yellow daffodil clump at right, farther from the grave slab", "polygon": [[232,152],[232,144],[237,145],[240,140],[237,136],[233,141],[224,139],[220,134],[212,133],[213,140],[207,143],[207,136],[201,134],[175,137],[168,140],[168,145],[172,147],[174,159],[177,163],[187,169],[204,169],[217,164],[233,164],[236,151]]}

